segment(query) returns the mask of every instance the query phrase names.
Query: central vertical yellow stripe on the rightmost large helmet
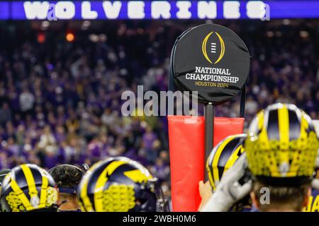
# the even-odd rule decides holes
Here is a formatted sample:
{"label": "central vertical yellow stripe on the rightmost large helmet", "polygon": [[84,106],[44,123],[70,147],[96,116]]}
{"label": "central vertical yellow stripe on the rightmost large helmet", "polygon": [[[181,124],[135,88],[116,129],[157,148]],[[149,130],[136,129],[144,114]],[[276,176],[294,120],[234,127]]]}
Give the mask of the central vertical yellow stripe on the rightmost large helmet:
{"label": "central vertical yellow stripe on the rightmost large helmet", "polygon": [[286,105],[278,109],[281,162],[289,163],[289,111]]}

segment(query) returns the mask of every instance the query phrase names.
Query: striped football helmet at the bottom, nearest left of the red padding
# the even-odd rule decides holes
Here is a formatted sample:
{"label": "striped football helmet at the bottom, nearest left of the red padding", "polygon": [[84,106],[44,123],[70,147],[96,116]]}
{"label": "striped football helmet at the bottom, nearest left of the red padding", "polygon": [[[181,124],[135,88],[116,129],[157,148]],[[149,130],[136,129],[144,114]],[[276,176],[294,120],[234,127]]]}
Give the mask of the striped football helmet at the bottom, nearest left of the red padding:
{"label": "striped football helmet at the bottom, nearest left of the red padding", "polygon": [[168,210],[157,179],[127,157],[96,163],[82,178],[77,197],[83,212]]}

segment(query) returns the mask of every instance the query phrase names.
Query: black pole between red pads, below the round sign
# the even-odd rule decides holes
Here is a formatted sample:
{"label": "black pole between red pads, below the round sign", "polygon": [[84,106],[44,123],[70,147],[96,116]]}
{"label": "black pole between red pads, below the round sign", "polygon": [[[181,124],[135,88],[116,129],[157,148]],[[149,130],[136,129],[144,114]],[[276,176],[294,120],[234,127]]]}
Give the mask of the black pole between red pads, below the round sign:
{"label": "black pole between red pads, below the round sign", "polygon": [[206,171],[206,161],[208,155],[213,150],[213,135],[214,135],[214,115],[215,106],[210,102],[204,107],[204,119],[205,119],[205,159],[204,159],[204,177],[205,181],[208,181],[208,174]]}

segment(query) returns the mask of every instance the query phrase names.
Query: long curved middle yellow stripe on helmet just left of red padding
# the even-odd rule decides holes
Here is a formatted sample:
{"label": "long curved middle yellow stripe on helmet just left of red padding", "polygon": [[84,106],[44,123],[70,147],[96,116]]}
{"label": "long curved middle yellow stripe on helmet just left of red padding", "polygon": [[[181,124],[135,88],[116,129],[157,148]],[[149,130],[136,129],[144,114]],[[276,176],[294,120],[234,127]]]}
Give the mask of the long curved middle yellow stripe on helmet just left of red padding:
{"label": "long curved middle yellow stripe on helmet just left of red padding", "polygon": [[112,174],[121,165],[124,165],[127,162],[124,161],[114,161],[111,162],[100,174],[99,178],[96,181],[94,188],[94,206],[96,212],[103,212],[103,188],[106,182],[108,181],[108,175]]}

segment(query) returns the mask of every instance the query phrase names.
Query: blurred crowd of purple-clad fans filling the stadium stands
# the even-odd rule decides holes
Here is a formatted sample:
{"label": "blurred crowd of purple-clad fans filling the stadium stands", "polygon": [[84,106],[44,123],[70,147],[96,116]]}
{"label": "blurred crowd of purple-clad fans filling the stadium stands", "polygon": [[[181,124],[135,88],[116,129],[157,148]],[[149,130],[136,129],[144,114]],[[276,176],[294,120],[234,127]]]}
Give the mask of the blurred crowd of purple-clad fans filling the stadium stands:
{"label": "blurred crowd of purple-clad fans filling the stadium stands", "polygon": [[[72,42],[61,30],[39,33],[27,23],[0,25],[0,169],[23,162],[47,169],[92,165],[124,155],[147,166],[169,194],[166,117],[123,117],[121,94],[136,93],[137,85],[167,90],[174,40],[201,23],[106,23],[96,36],[75,30]],[[242,37],[253,57],[246,122],[279,101],[319,119],[318,25],[220,23]],[[216,114],[238,117],[239,99],[216,107]]]}

